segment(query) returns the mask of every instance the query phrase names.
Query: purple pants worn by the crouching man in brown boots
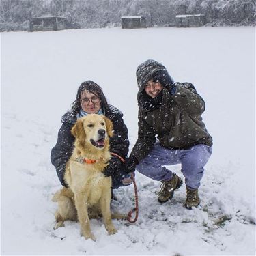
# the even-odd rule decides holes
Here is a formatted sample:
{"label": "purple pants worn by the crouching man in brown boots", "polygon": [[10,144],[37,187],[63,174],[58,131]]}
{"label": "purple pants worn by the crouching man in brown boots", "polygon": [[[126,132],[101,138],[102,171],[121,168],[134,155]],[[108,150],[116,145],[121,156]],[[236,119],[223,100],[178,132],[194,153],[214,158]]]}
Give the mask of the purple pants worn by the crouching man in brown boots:
{"label": "purple pants worn by the crouching man in brown boots", "polygon": [[165,181],[170,180],[173,173],[163,165],[181,164],[186,186],[195,189],[200,186],[203,167],[211,154],[212,147],[203,144],[195,145],[186,150],[170,150],[156,143],[150,154],[139,162],[136,169],[153,180]]}

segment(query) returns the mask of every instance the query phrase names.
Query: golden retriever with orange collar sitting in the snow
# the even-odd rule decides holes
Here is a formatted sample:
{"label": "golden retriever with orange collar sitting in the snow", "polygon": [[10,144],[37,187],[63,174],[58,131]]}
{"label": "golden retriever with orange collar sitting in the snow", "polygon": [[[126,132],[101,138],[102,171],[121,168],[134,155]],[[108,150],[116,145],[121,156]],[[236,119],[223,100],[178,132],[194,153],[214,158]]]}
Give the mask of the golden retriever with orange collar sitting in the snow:
{"label": "golden retriever with orange collar sitting in the snow", "polygon": [[65,220],[78,218],[82,236],[95,240],[89,218],[101,215],[108,233],[117,232],[110,211],[111,177],[102,173],[111,158],[112,129],[111,120],[104,115],[90,114],[74,124],[71,130],[75,137],[74,150],[64,175],[69,188],[62,188],[53,196],[53,201],[58,202],[55,229],[63,226]]}

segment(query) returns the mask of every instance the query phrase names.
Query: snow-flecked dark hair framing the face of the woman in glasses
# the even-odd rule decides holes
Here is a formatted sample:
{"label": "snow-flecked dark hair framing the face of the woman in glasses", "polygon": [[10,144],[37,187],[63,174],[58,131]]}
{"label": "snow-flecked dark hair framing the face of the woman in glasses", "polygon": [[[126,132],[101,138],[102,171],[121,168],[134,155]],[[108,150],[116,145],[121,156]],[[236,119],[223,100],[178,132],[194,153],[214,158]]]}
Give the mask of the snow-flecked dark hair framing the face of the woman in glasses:
{"label": "snow-flecked dark hair framing the face of the woman in glasses", "polygon": [[74,102],[72,103],[72,106],[71,106],[71,112],[74,115],[76,115],[76,113],[79,113],[79,111],[81,109],[81,104],[80,104],[81,92],[84,90],[87,90],[91,94],[94,94],[100,98],[102,110],[109,109],[109,104],[106,101],[106,97],[104,96],[100,85],[97,85],[94,81],[88,80],[88,81],[81,83],[81,85],[79,86],[79,89],[77,90],[76,100],[74,100]]}

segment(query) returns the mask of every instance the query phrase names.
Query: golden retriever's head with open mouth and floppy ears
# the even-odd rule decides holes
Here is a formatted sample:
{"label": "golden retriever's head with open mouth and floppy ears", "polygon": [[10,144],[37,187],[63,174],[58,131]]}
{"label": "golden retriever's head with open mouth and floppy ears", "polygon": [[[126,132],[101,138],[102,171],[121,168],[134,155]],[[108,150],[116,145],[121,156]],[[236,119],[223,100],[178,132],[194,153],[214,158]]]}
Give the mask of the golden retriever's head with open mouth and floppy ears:
{"label": "golden retriever's head with open mouth and floppy ears", "polygon": [[113,124],[104,115],[90,114],[78,119],[71,133],[82,147],[90,143],[100,150],[104,148],[106,139],[113,136]]}

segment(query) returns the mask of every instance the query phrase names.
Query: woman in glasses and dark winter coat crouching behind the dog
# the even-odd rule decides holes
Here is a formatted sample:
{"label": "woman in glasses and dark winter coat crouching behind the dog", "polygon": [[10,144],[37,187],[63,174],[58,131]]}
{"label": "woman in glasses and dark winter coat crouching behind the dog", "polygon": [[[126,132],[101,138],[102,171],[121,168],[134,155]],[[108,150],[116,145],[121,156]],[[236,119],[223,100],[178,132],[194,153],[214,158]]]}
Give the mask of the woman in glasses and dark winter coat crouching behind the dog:
{"label": "woman in glasses and dark winter coat crouching behind the dog", "polygon": [[115,155],[104,169],[104,175],[112,177],[112,188],[132,184],[121,161],[121,158],[126,158],[129,147],[128,130],[122,118],[123,114],[115,106],[107,103],[101,87],[93,81],[85,81],[80,85],[71,110],[61,117],[62,126],[59,129],[57,143],[51,150],[51,162],[55,166],[59,181],[63,186],[68,186],[64,180],[64,173],[74,147],[71,129],[77,119],[88,114],[105,115],[113,122],[114,135],[110,138],[110,151]]}

